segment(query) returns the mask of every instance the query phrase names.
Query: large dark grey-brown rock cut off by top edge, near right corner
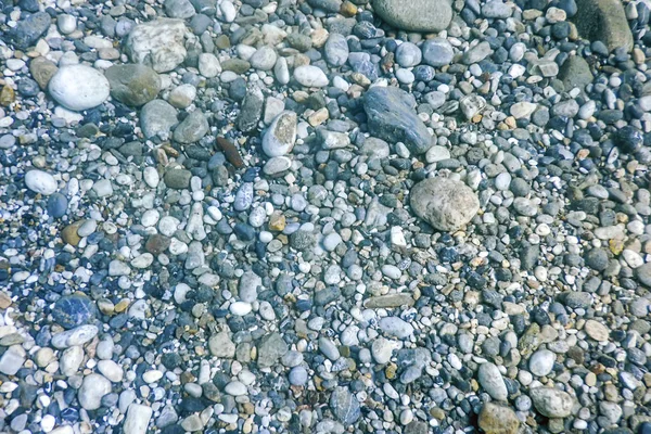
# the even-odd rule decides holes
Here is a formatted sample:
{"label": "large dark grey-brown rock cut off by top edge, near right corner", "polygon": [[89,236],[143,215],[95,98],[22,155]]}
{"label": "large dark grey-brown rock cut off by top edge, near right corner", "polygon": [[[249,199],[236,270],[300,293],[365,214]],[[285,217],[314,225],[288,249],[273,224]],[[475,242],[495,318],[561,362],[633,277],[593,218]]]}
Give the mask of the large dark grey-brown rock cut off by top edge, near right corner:
{"label": "large dark grey-brown rock cut off by top edge, near right corner", "polygon": [[620,0],[577,0],[575,17],[578,34],[589,40],[600,40],[609,51],[624,47],[633,50],[633,34]]}

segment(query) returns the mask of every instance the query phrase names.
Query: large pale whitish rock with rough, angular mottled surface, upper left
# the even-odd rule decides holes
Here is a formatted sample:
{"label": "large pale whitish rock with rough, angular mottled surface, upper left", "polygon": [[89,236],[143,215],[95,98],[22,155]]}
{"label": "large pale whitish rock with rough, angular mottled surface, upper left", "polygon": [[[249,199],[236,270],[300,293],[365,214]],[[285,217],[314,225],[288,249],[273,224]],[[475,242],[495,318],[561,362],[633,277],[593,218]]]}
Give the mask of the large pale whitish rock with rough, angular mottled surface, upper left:
{"label": "large pale whitish rock with rough, angular mottled surface, upper left", "polygon": [[166,73],[186,60],[187,30],[181,20],[158,18],[139,24],[129,33],[125,51],[131,62],[151,66],[156,73]]}

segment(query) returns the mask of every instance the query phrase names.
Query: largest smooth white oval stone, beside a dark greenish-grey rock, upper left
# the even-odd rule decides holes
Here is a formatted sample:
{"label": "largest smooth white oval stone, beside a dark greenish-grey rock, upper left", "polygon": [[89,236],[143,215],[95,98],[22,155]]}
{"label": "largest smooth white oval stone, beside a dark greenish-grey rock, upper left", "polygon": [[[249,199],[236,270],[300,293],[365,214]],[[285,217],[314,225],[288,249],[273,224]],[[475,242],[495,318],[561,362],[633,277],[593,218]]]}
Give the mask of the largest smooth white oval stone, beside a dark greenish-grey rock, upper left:
{"label": "largest smooth white oval stone, beside a dark greenish-grey rock, upper left", "polygon": [[77,112],[97,107],[111,92],[108,80],[102,73],[81,64],[59,68],[48,89],[58,103]]}

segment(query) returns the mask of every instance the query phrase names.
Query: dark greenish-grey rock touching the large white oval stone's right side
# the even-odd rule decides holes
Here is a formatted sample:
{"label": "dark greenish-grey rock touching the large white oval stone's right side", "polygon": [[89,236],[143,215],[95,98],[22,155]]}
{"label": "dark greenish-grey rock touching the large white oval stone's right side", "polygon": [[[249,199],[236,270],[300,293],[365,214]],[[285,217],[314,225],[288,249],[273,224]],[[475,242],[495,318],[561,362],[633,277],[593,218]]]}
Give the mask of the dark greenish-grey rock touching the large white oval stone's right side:
{"label": "dark greenish-grey rock touching the large white oval stone's right side", "polygon": [[149,66],[113,65],[104,75],[111,85],[111,97],[132,107],[146,104],[161,91],[161,77]]}

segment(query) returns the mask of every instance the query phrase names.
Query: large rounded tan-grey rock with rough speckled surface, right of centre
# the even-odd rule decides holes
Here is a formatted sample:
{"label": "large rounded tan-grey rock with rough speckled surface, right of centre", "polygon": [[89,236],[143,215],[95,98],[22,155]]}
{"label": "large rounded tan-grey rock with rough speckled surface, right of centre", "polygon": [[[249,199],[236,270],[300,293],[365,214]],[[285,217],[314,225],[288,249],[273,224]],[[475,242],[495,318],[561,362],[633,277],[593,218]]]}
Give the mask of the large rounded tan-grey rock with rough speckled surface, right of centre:
{"label": "large rounded tan-grey rock with rough speckled surface, right of centre", "polygon": [[442,231],[456,231],[480,210],[480,200],[470,187],[447,178],[429,178],[411,189],[413,213]]}

